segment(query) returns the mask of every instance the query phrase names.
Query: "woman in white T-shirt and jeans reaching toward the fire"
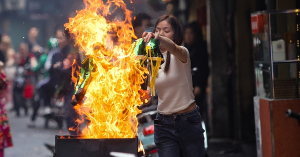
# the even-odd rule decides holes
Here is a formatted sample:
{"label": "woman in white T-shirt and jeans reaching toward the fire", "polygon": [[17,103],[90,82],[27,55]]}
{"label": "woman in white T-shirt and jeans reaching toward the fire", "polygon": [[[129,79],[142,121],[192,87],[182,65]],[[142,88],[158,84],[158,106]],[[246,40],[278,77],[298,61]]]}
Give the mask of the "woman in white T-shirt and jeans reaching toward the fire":
{"label": "woman in white T-shirt and jeans reaching toward the fire", "polygon": [[188,50],[181,45],[183,32],[177,18],[160,16],[155,33],[144,32],[160,41],[165,58],[155,78],[158,91],[157,116],[154,120],[154,142],[159,157],[204,157],[204,130],[198,106],[194,101]]}

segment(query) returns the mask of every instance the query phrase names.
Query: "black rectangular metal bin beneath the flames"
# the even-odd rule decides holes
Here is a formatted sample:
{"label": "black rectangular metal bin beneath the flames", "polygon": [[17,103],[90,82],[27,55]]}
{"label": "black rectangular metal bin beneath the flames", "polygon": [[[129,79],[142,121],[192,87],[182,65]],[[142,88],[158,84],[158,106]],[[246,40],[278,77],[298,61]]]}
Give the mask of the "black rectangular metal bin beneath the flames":
{"label": "black rectangular metal bin beneath the flames", "polygon": [[138,154],[138,140],[80,139],[80,136],[55,136],[53,157],[111,157],[110,152]]}

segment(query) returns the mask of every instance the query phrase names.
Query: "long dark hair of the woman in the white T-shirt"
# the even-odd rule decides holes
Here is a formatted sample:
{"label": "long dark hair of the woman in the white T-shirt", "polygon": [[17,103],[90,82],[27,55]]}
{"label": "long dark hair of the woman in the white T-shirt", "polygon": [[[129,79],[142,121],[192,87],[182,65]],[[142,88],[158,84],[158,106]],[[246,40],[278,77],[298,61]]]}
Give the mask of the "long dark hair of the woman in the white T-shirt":
{"label": "long dark hair of the woman in the white T-shirt", "polygon": [[[182,26],[181,26],[179,20],[173,15],[162,15],[162,16],[158,17],[158,19],[156,20],[155,28],[159,22],[164,21],[164,20],[166,20],[171,25],[171,27],[174,31],[174,37],[173,37],[172,41],[177,45],[181,45],[181,43],[183,41],[183,30],[182,30]],[[170,65],[170,52],[167,51],[166,59],[165,59],[165,67],[163,69],[163,72],[168,71],[169,65]]]}

